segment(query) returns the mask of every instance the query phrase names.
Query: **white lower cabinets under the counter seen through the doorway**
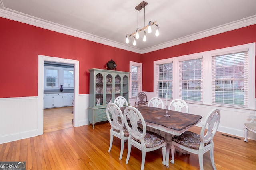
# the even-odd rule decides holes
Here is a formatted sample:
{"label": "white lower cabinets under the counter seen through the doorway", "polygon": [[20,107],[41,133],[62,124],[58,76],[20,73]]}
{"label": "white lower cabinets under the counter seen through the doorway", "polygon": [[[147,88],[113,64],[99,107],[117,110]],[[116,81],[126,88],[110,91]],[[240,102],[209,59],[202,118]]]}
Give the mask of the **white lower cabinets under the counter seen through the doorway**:
{"label": "white lower cabinets under the counter seen through the doorway", "polygon": [[73,106],[73,96],[74,93],[44,94],[44,109]]}

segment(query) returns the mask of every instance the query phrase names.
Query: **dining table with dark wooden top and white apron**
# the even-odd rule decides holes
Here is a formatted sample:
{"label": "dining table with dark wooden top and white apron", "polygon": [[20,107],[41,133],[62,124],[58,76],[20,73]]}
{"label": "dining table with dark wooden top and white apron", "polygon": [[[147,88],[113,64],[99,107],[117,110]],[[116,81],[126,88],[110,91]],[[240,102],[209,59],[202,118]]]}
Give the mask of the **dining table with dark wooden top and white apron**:
{"label": "dining table with dark wooden top and white apron", "polygon": [[[121,107],[124,113],[126,107]],[[138,105],[135,108],[142,114],[146,126],[160,131],[160,135],[166,138],[166,167],[169,167],[169,154],[172,137],[178,136],[201,121],[202,116],[191,113],[182,113],[157,107]]]}

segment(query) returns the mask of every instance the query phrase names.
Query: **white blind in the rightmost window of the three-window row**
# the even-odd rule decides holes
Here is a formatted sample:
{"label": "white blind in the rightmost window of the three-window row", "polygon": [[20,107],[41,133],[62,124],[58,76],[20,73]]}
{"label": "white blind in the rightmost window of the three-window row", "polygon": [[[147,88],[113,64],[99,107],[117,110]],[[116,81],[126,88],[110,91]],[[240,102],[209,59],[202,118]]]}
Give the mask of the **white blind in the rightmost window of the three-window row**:
{"label": "white blind in the rightmost window of the three-window row", "polygon": [[212,103],[248,106],[248,51],[212,57]]}

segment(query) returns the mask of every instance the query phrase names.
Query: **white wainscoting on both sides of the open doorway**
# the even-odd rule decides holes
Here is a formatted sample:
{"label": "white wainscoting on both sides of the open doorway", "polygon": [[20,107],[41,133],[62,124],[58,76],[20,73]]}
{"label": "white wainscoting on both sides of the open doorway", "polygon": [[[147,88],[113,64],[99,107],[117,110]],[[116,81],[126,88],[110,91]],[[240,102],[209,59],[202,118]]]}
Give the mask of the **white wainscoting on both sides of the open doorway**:
{"label": "white wainscoting on both sides of the open doorway", "polygon": [[[78,126],[88,125],[89,94],[78,95]],[[38,97],[0,98],[0,144],[40,135]]]}

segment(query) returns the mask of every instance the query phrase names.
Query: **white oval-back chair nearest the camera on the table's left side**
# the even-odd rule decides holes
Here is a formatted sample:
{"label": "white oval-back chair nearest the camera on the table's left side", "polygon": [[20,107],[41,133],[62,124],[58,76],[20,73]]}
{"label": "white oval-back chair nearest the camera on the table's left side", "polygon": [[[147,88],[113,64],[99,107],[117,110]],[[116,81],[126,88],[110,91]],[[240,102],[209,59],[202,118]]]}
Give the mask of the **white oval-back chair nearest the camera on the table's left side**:
{"label": "white oval-back chair nearest the camera on the table's left side", "polygon": [[[163,162],[166,164],[166,139],[160,135],[147,131],[146,123],[140,111],[133,106],[128,106],[124,110],[124,124],[128,127],[127,119],[130,120],[131,127],[128,128],[128,153],[126,164],[128,164],[132,145],[141,150],[141,170],[144,169],[146,152],[162,148]],[[138,123],[142,123],[142,129],[138,127]]]}

